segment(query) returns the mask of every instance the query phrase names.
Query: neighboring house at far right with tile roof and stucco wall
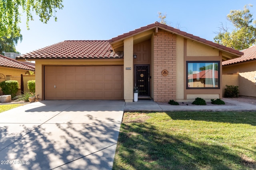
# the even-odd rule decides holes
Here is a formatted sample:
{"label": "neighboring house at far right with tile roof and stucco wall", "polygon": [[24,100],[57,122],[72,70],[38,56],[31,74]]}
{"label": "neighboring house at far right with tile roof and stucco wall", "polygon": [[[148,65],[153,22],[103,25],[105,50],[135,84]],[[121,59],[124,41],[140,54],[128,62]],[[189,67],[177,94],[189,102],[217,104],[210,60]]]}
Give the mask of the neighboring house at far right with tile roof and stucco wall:
{"label": "neighboring house at far right with tile roof and stucco wall", "polygon": [[238,74],[240,96],[256,97],[256,45],[244,49],[242,57],[222,62],[223,74]]}

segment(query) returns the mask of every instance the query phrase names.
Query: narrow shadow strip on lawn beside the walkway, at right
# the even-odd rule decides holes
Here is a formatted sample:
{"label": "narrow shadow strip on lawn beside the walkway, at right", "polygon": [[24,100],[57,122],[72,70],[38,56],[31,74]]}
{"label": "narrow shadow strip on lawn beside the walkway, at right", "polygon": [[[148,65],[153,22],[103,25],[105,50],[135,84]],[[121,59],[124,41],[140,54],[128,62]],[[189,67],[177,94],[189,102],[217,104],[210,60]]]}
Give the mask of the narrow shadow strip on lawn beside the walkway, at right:
{"label": "narrow shadow strip on lawn beside the walkway, at right", "polygon": [[256,126],[256,112],[239,112],[239,111],[184,111],[184,112],[166,112],[174,120],[196,120],[196,121],[213,121],[223,123],[243,123]]}

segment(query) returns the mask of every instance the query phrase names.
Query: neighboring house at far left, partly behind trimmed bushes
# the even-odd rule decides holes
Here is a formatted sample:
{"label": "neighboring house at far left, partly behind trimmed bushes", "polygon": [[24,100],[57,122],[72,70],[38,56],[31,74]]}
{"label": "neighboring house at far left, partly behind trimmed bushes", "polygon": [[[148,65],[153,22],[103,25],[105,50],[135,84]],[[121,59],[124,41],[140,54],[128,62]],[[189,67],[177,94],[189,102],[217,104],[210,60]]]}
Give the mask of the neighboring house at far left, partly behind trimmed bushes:
{"label": "neighboring house at far left, partly behind trimmed bushes", "polygon": [[[5,80],[17,80],[21,85],[20,76],[24,75],[24,91],[28,91],[27,82],[33,80],[34,76],[25,76],[29,71],[35,72],[35,64],[26,61],[16,61],[10,57],[0,55],[0,82]],[[21,92],[19,91],[18,94]],[[0,90],[0,95],[2,91]]]}

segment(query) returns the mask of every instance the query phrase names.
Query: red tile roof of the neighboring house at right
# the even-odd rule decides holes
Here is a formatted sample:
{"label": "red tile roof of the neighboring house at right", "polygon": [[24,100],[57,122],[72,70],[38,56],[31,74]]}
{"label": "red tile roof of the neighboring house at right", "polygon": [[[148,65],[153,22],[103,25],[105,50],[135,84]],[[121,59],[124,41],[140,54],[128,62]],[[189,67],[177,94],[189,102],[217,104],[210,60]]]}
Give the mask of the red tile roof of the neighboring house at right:
{"label": "red tile roof of the neighboring house at right", "polygon": [[253,45],[253,46],[249,47],[248,49],[244,49],[241,51],[244,53],[244,55],[242,55],[242,57],[223,61],[222,66],[229,65],[229,64],[235,64],[235,63],[242,63],[245,61],[256,60],[256,45]]}

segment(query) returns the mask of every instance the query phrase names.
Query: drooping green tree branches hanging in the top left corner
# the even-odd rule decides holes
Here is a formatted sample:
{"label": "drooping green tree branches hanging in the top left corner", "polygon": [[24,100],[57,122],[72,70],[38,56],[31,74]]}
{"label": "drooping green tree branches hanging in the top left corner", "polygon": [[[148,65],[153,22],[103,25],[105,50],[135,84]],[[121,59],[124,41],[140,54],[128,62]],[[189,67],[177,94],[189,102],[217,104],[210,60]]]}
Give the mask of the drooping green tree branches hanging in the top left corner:
{"label": "drooping green tree branches hanging in the top left corner", "polygon": [[12,48],[15,49],[18,40],[22,40],[19,27],[20,12],[26,14],[26,24],[29,29],[29,21],[34,20],[34,12],[40,17],[40,21],[43,23],[47,23],[52,16],[54,16],[55,21],[57,21],[57,17],[55,16],[57,12],[56,8],[62,9],[64,7],[62,1],[63,0],[0,0],[1,48],[6,45],[14,45]]}

